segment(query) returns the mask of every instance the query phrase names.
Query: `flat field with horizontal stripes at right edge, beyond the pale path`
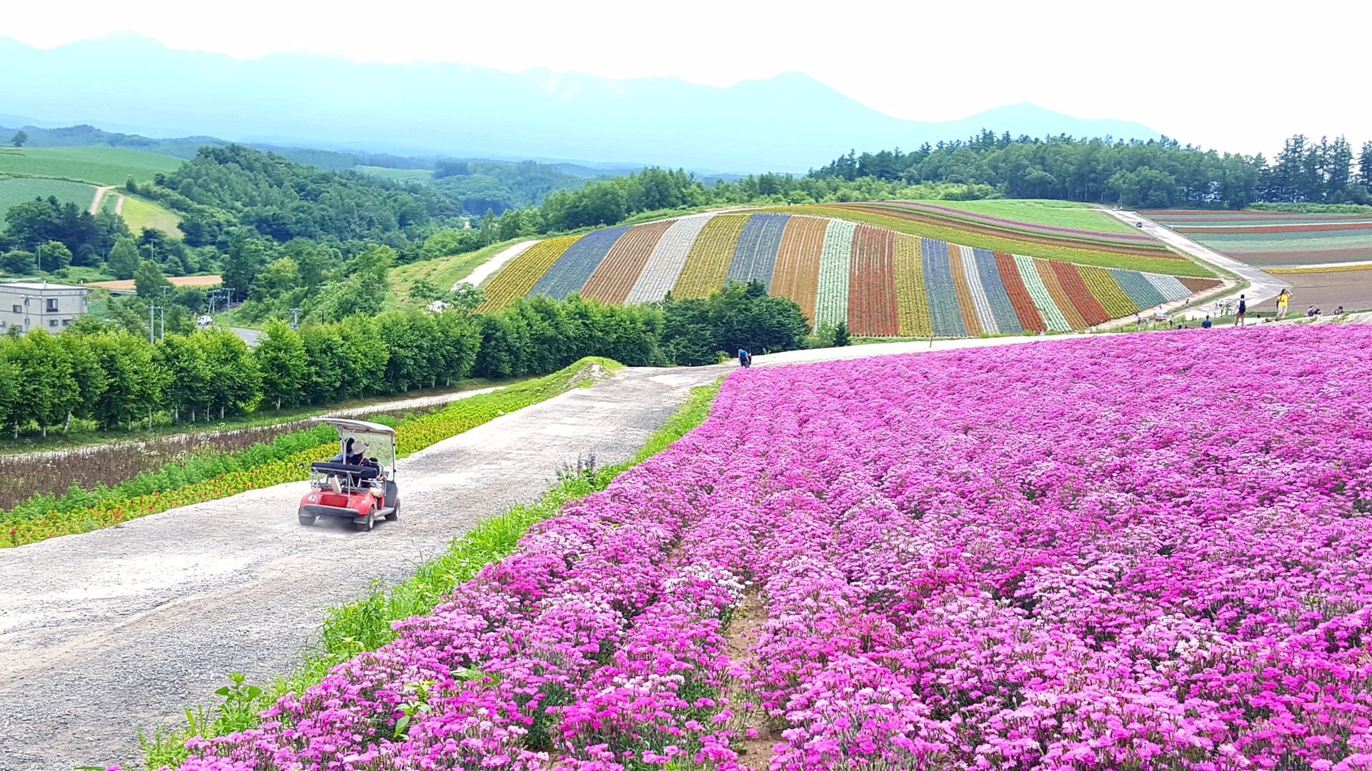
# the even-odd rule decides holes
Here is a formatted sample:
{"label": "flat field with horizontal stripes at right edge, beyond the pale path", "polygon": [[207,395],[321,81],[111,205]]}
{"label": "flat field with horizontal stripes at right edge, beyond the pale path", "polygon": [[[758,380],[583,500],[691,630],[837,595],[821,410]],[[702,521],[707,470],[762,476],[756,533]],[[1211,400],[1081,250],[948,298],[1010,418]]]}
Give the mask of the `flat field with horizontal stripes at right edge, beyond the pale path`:
{"label": "flat field with horizontal stripes at right edge, beyond the pale path", "polygon": [[1372,261],[1372,215],[1297,211],[1143,211],[1159,225],[1257,268]]}

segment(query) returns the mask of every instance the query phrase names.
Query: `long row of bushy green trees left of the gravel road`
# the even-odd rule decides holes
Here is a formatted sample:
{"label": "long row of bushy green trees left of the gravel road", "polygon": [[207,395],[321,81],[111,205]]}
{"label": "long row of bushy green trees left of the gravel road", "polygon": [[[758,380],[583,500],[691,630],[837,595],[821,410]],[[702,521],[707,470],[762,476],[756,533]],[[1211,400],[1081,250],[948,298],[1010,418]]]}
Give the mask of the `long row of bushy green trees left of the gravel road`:
{"label": "long row of bushy green trees left of the gravel road", "polygon": [[572,295],[520,299],[491,314],[355,314],[292,329],[274,321],[255,347],[228,331],[150,342],[81,318],[59,335],[0,337],[0,424],[18,436],[73,420],[102,429],[222,420],[254,409],[329,405],[450,386],[466,377],[556,372],[583,357],[631,366],[713,364],[722,351],[807,343],[800,307],[753,281],[708,299],[606,306]]}

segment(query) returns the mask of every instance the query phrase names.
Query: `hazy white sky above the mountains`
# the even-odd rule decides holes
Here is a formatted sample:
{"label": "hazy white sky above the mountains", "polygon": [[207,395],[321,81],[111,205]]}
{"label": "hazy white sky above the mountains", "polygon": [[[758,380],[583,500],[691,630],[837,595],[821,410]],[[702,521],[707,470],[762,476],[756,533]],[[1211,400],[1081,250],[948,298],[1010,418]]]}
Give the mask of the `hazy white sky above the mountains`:
{"label": "hazy white sky above the mountains", "polygon": [[307,49],[711,85],[799,70],[910,119],[1033,102],[1243,152],[1272,152],[1295,132],[1372,139],[1367,0],[5,5],[0,34],[43,48],[129,29],[239,58]]}

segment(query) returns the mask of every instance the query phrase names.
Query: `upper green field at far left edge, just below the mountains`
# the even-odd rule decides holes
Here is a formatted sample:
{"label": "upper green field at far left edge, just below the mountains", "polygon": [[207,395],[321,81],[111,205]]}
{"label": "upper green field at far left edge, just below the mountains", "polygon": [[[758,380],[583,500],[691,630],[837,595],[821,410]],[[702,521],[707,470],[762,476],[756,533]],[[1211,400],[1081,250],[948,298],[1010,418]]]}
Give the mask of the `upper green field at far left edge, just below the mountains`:
{"label": "upper green field at far left edge, just below the mountains", "polygon": [[0,177],[49,177],[93,185],[122,185],[129,177],[143,182],[170,174],[184,161],[126,147],[25,147],[0,150]]}

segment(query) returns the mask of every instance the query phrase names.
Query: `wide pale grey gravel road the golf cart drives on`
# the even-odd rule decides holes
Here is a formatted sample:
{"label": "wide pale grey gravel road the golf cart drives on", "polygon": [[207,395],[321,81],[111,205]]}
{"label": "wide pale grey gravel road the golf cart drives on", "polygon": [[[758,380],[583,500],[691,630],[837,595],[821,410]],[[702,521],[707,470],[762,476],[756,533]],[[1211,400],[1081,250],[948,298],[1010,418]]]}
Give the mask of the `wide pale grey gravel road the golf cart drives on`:
{"label": "wide pale grey gravel road the golf cart drives on", "polygon": [[137,767],[136,728],[211,704],[230,671],[289,671],[327,606],[406,578],[578,454],[631,457],[727,370],[627,369],[416,453],[401,521],[370,534],[300,527],[291,483],[0,550],[0,770]]}

